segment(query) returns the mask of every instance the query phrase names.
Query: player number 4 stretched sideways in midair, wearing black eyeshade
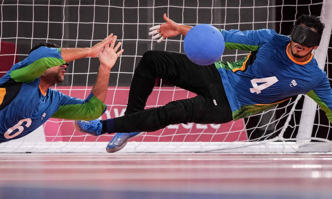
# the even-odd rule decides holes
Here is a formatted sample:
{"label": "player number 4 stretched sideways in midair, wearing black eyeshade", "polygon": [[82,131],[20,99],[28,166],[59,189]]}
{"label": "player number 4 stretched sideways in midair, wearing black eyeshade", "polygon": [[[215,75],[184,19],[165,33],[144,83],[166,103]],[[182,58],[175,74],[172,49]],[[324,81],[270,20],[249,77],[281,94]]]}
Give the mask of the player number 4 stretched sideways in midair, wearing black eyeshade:
{"label": "player number 4 stretched sideways in midair, wearing black eyeshade", "polygon": [[[166,14],[164,19],[165,24],[150,29],[155,29],[150,34],[158,33],[154,39],[162,36],[158,42],[166,37],[186,35],[192,28],[173,22]],[[219,61],[200,66],[182,53],[147,51],[135,69],[125,115],[76,121],[75,126],[92,135],[117,133],[106,147],[107,152],[116,152],[140,132],[188,122],[226,123],[269,109],[299,94],[315,100],[332,122],[330,83],[311,52],[318,47],[324,28],[317,17],[302,15],[296,20],[291,37],[271,29],[220,30],[226,48],[251,51],[243,60],[232,63]],[[157,77],[197,96],[144,110]]]}

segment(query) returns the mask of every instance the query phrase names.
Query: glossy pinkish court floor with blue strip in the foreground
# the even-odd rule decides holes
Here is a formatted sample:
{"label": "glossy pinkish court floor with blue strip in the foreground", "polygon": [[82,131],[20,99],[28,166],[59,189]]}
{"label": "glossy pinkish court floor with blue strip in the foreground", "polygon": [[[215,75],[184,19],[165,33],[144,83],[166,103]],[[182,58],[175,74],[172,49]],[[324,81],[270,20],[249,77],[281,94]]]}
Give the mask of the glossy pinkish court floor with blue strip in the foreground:
{"label": "glossy pinkish court floor with blue strip in the foreground", "polygon": [[331,198],[332,154],[0,154],[0,198]]}

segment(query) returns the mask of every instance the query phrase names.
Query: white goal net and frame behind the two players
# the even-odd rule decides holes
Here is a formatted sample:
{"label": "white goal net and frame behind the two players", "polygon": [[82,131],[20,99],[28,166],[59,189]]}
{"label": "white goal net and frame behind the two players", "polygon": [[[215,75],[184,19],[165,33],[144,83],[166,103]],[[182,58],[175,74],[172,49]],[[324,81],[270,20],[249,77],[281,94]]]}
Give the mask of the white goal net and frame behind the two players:
{"label": "white goal net and frame behind the two players", "polygon": [[[110,33],[118,35],[125,51],[111,71],[108,107],[103,119],[124,114],[131,78],[145,51],[184,52],[181,35],[161,43],[152,41],[148,35],[150,27],[164,23],[163,13],[177,23],[191,26],[211,24],[226,30],[269,28],[285,35],[290,34],[301,14],[320,16],[326,29],[321,46],[314,54],[320,67],[332,77],[328,71],[332,64],[329,1],[0,0],[0,3],[0,76],[26,58],[37,43],[88,47]],[[241,60],[248,53],[225,50],[221,60]],[[98,66],[98,58],[73,61],[64,82],[52,88],[69,96],[86,98],[95,83]],[[146,108],[193,96],[157,80]],[[120,152],[329,152],[332,150],[330,127],[317,104],[304,100],[304,96],[295,96],[263,113],[227,124],[179,124],[144,133],[130,140]],[[72,121],[51,118],[30,135],[0,144],[0,152],[105,152],[112,137],[111,134],[85,135],[74,130]]]}

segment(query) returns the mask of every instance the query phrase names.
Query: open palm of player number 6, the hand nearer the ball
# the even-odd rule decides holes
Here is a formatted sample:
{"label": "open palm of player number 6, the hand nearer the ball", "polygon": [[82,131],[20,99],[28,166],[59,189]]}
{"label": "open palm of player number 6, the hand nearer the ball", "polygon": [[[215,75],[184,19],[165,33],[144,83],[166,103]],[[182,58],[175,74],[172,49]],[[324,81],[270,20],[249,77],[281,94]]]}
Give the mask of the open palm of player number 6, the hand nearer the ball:
{"label": "open palm of player number 6, the hand nearer the ball", "polygon": [[119,42],[114,47],[116,40],[117,40],[117,36],[114,36],[114,39],[113,39],[114,42],[112,42],[111,45],[108,43],[106,45],[104,45],[103,46],[103,47],[105,47],[104,50],[102,50],[98,54],[100,64],[106,66],[109,69],[111,69],[114,66],[118,57],[121,55],[121,53],[124,52],[124,49],[121,49],[118,51],[119,47],[121,46],[121,42]]}

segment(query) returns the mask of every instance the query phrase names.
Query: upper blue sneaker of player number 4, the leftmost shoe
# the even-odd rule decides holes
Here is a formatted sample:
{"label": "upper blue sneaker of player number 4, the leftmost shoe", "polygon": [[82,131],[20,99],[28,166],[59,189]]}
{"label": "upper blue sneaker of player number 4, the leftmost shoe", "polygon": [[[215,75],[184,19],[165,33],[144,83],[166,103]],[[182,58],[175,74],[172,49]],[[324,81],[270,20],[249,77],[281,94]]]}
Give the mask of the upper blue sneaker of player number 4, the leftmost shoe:
{"label": "upper blue sneaker of player number 4, the leftmost shoe", "polygon": [[102,123],[99,119],[84,121],[84,120],[74,120],[74,127],[82,133],[88,133],[93,136],[102,135]]}

